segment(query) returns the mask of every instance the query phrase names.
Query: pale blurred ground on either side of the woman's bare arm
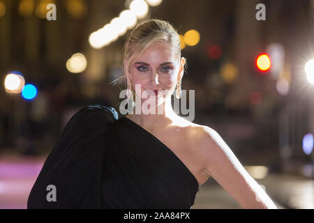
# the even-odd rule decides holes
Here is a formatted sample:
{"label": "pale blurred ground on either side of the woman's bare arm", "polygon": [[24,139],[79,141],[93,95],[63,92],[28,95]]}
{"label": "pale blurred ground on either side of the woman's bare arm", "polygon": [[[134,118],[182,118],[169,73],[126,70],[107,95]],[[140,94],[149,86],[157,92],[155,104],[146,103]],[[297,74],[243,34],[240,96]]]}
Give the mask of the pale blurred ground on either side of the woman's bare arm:
{"label": "pale blurred ground on either side of the woman's bare arm", "polygon": [[[314,208],[313,180],[288,174],[269,174],[257,183],[266,187],[278,209]],[[215,180],[209,179],[200,187],[193,208],[241,209],[241,206]]]}

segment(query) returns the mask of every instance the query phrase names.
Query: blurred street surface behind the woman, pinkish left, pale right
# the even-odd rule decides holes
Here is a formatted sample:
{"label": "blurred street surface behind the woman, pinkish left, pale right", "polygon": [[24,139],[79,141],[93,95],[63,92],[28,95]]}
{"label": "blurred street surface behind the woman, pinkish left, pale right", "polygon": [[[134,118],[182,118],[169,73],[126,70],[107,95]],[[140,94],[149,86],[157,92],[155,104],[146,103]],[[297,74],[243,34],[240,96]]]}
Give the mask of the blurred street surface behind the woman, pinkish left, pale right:
{"label": "blurred street surface behind the woman, pinkish left, pale right", "polygon": [[[0,158],[0,208],[27,208],[27,198],[45,157]],[[280,209],[314,208],[313,180],[292,174],[268,174],[257,180]],[[200,186],[193,209],[241,209],[212,178]]]}

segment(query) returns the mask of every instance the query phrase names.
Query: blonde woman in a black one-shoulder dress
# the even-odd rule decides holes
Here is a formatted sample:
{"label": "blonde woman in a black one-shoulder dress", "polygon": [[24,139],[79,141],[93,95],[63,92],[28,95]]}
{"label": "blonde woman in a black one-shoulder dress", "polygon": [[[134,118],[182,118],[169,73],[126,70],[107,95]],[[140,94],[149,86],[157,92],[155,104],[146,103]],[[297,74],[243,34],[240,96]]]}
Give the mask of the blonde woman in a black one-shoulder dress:
{"label": "blonde woman in a black one-shoulder dress", "polygon": [[128,100],[140,98],[133,113],[119,118],[103,105],[77,112],[47,157],[28,208],[191,208],[209,177],[243,208],[276,208],[215,130],[173,111],[185,63],[171,24],[138,24],[121,77]]}

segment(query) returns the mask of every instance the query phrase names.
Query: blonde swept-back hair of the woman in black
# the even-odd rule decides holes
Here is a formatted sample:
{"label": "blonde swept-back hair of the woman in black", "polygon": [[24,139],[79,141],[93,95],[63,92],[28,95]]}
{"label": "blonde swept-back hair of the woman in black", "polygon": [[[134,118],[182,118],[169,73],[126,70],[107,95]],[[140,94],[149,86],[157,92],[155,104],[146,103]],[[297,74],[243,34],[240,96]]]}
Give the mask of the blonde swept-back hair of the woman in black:
{"label": "blonde swept-back hair of the woman in black", "polygon": [[[177,58],[181,58],[180,37],[172,24],[165,20],[147,20],[137,24],[137,26],[135,26],[135,28],[130,32],[130,36],[124,45],[124,75],[114,79],[111,83],[117,84],[124,80],[126,89],[128,89],[128,91],[132,90],[131,95],[134,95],[135,92],[134,89],[132,89],[131,82],[126,75],[126,69],[129,68],[130,64],[135,61],[135,59],[142,55],[147,47],[156,42],[167,43],[168,46],[174,50]],[[130,98],[131,95],[128,95],[128,98],[133,100],[133,96]]]}

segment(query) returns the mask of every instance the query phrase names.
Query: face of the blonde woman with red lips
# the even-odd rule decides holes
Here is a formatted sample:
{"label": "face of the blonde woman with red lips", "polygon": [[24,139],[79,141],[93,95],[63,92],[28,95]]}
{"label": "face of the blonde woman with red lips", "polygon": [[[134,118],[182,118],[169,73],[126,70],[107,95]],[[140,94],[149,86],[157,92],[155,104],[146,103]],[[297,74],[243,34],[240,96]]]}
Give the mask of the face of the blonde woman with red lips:
{"label": "face of the blonde woman with red lips", "polygon": [[184,58],[179,61],[166,43],[154,43],[130,64],[127,75],[137,97],[142,100],[154,97],[156,105],[160,105],[171,97],[181,80],[184,63]]}

